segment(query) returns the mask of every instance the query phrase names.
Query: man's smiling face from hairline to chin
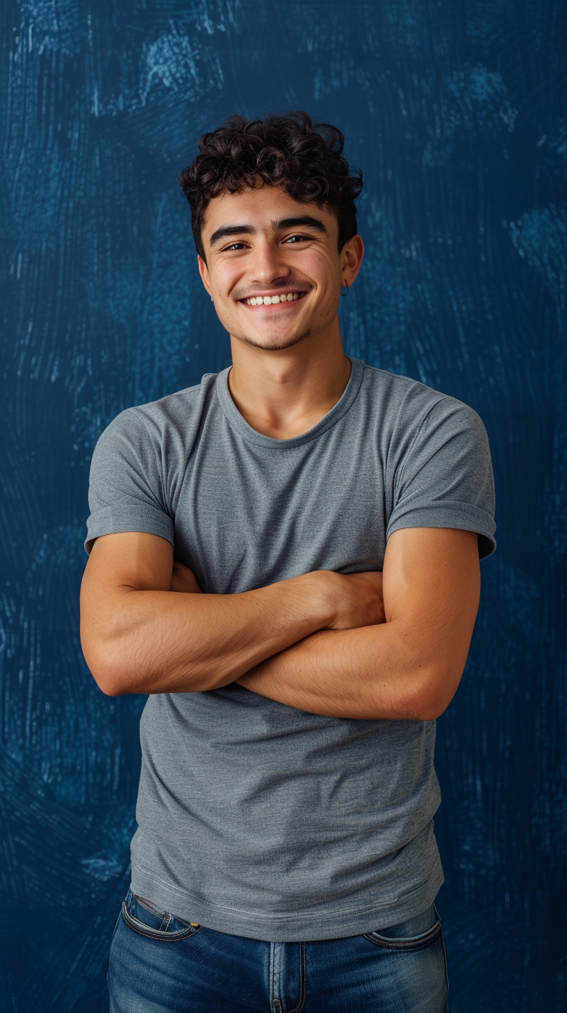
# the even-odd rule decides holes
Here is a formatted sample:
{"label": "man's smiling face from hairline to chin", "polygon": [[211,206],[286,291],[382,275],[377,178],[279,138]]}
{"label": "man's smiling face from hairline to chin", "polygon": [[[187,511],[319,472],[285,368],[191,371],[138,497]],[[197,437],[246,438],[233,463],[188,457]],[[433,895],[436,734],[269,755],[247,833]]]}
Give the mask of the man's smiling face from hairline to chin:
{"label": "man's smiling face from hairline to chin", "polygon": [[352,280],[337,237],[331,211],[295,201],[279,186],[214,198],[199,270],[229,333],[275,350],[328,327],[342,279]]}

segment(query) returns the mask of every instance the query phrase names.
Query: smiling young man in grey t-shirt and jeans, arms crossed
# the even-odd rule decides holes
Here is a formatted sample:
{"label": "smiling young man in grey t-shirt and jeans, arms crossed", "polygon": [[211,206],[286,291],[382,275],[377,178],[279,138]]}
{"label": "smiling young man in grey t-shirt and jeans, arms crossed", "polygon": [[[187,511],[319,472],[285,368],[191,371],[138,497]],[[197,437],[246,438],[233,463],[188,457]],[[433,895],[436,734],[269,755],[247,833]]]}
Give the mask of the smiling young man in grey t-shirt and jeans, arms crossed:
{"label": "smiling young man in grey t-shirt and jeans, arms crossed", "polygon": [[361,178],[306,113],[180,177],[233,366],[103,433],[82,641],[148,693],[111,1010],[441,1013],[435,718],[494,542],[484,427],[345,358]]}

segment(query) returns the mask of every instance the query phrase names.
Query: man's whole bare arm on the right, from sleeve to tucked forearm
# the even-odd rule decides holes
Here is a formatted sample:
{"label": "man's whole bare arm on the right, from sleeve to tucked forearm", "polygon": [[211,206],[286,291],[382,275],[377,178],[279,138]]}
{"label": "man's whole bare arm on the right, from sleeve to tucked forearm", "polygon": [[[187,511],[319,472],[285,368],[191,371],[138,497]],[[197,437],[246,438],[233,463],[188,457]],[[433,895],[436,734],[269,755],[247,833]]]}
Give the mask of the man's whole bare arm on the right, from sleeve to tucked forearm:
{"label": "man's whole bare arm on the right, from sleeve to tucked forearm", "polygon": [[465,668],[479,594],[476,534],[397,531],[384,561],[385,624],[317,632],[238,682],[316,714],[438,717]]}

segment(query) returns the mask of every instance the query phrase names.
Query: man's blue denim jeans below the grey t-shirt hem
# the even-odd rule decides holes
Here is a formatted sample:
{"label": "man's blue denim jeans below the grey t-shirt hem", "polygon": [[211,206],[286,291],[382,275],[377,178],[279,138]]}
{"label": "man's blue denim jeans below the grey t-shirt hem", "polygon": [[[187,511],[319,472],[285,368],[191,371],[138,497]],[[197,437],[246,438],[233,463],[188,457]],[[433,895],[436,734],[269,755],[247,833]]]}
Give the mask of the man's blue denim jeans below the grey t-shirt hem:
{"label": "man's blue denim jeans below the grey t-shirt hem", "polygon": [[268,943],[189,925],[129,890],[108,970],[111,1013],[444,1013],[434,905],[379,932]]}

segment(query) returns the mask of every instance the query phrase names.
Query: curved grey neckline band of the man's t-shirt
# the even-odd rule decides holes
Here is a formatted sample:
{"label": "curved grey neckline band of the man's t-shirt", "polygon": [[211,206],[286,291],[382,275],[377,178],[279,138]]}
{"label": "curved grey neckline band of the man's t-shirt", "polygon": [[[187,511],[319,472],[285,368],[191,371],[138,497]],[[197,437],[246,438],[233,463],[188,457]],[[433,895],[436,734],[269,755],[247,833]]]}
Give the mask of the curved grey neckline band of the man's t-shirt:
{"label": "curved grey neckline band of the man's t-shirt", "polygon": [[291,437],[289,440],[274,440],[273,437],[266,437],[263,433],[258,433],[248,424],[246,419],[240,414],[229,391],[230,366],[217,376],[216,387],[221,407],[230,424],[249,443],[258,444],[261,447],[269,447],[271,450],[293,450],[295,447],[301,447],[312,440],[317,440],[323,433],[326,433],[327,430],[335,425],[354,403],[362,382],[364,364],[360,359],[350,359],[349,356],[347,356],[347,359],[349,359],[351,364],[350,376],[338,401],[326,415],[323,415],[323,418],[313,428],[308,430],[307,433],[302,433],[298,437]]}

